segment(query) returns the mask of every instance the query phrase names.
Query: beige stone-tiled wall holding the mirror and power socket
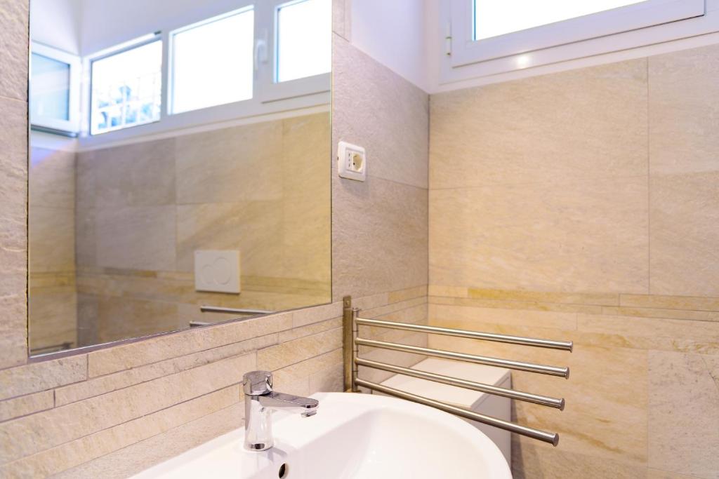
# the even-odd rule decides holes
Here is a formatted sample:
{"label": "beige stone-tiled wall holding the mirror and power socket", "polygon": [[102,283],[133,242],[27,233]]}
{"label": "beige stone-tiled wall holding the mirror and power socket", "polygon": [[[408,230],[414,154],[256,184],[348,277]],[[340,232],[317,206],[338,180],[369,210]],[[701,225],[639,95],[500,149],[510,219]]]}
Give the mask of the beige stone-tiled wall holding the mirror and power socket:
{"label": "beige stone-tiled wall holding the mirror and power socket", "polygon": [[[253,368],[275,369],[275,383],[288,392],[339,391],[337,300],[343,294],[357,297],[366,315],[423,321],[426,185],[421,177],[406,179],[399,165],[383,164],[401,162],[408,177],[426,170],[427,137],[421,131],[428,124],[429,98],[347,43],[348,3],[334,1],[343,7],[335,15],[334,98],[356,98],[352,106],[362,116],[352,131],[333,121],[333,143],[371,144],[368,153],[378,176],[370,169],[362,185],[333,176],[335,302],[28,363],[27,0],[0,0],[0,62],[12,66],[0,71],[1,477],[127,477],[239,426],[239,381]],[[368,70],[361,81],[348,74],[354,61]],[[373,78],[382,80],[368,88],[364,83]],[[362,88],[366,96],[355,96]],[[372,114],[393,96],[412,104],[392,116]],[[394,148],[395,138],[377,134],[397,124],[416,131],[411,159],[383,154]],[[422,338],[409,340],[421,343]]]}

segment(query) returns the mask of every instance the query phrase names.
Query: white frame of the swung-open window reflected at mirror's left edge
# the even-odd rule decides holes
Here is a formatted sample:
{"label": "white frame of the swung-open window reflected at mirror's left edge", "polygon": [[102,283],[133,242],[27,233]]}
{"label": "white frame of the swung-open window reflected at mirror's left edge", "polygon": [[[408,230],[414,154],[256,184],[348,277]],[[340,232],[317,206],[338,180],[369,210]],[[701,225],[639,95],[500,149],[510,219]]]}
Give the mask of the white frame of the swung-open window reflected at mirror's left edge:
{"label": "white frame of the swung-open window reflected at mirror's left edge", "polygon": [[[82,62],[81,58],[77,55],[72,55],[63,50],[57,48],[48,47],[42,43],[32,42],[31,54],[41,55],[43,57],[50,58],[51,60],[57,60],[70,65],[70,83],[68,85],[68,119],[60,120],[59,118],[51,118],[48,116],[41,116],[40,118],[33,117],[31,127],[37,127],[39,129],[47,129],[50,131],[56,131],[63,134],[75,135],[80,131],[80,98],[81,98],[81,75],[82,75]],[[32,68],[32,65],[31,65]],[[32,72],[29,75],[30,81],[32,82]],[[31,98],[32,101],[32,98]]]}

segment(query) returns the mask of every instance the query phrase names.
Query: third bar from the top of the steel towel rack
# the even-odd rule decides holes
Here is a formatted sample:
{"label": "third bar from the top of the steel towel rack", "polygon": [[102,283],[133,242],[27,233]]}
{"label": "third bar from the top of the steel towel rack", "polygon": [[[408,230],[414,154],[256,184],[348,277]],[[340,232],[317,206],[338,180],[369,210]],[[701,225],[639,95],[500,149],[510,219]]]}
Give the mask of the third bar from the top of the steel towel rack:
{"label": "third bar from the top of the steel towel rack", "polygon": [[449,384],[449,386],[457,386],[464,389],[472,389],[472,391],[480,391],[482,393],[494,394],[495,396],[503,396],[520,401],[527,401],[543,406],[554,407],[562,411],[564,409],[564,398],[558,399],[549,396],[541,396],[539,394],[525,393],[522,391],[514,391],[513,389],[500,388],[498,386],[490,386],[485,383],[476,383],[475,381],[467,381],[466,379],[453,378],[452,376],[443,376],[441,374],[429,373],[418,369],[403,368],[387,363],[379,363],[370,361],[369,359],[356,358],[354,363],[357,366],[365,366],[367,368],[380,369],[390,373],[403,374],[414,378],[426,379],[437,383]]}

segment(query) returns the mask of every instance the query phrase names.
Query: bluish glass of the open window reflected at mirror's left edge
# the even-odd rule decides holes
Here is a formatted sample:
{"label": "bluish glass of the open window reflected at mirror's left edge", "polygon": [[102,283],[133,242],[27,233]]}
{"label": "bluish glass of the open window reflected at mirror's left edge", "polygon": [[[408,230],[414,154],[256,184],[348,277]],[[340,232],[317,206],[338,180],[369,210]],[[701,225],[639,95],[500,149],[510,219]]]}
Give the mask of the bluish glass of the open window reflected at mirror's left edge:
{"label": "bluish glass of the open window reflected at mirror's left edge", "polygon": [[30,122],[33,119],[70,119],[70,65],[32,54]]}

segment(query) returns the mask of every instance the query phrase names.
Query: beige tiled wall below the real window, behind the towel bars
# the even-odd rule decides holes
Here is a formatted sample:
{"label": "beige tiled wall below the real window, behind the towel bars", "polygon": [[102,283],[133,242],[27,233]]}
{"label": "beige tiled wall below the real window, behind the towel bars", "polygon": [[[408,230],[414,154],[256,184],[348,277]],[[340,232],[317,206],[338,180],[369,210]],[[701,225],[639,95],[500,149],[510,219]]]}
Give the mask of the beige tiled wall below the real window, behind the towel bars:
{"label": "beige tiled wall below the real window, behind the towel bars", "polygon": [[719,477],[719,46],[431,97],[429,322],[574,341],[430,345],[514,372],[559,447],[518,478]]}

